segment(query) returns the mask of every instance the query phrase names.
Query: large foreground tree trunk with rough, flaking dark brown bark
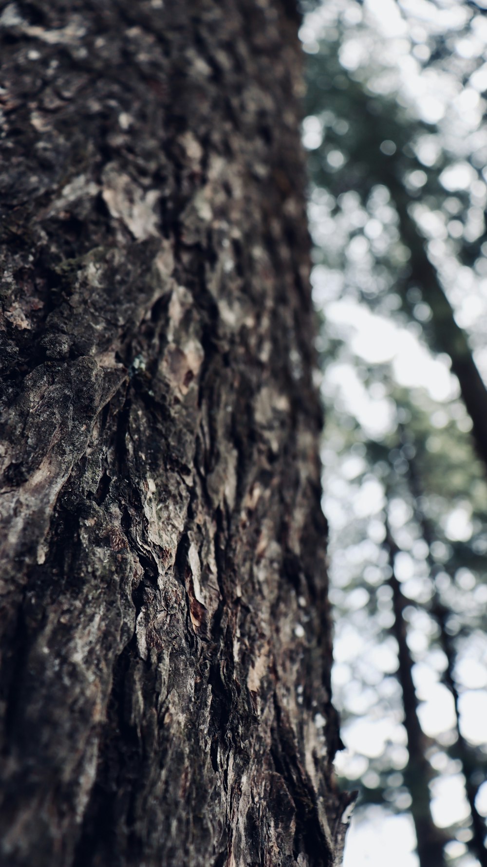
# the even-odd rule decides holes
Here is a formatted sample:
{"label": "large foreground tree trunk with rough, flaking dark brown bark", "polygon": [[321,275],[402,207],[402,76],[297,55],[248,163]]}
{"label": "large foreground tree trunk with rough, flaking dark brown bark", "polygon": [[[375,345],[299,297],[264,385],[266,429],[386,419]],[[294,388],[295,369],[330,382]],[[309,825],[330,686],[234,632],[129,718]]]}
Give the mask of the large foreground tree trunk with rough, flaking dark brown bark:
{"label": "large foreground tree trunk with rough, flaking dark brown bark", "polygon": [[3,5],[3,864],[339,864],[293,4]]}

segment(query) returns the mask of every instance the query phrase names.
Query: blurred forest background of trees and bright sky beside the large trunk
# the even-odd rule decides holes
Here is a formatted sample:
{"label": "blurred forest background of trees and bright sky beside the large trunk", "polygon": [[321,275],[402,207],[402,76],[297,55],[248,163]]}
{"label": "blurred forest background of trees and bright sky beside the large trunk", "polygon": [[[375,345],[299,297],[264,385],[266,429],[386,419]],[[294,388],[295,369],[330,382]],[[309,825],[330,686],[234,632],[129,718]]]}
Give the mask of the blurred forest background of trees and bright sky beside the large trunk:
{"label": "blurred forest background of trees and bright sky beside the large trunk", "polygon": [[486,9],[300,30],[346,867],[487,864]]}

